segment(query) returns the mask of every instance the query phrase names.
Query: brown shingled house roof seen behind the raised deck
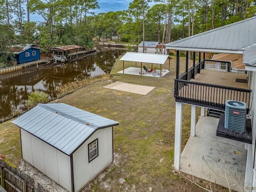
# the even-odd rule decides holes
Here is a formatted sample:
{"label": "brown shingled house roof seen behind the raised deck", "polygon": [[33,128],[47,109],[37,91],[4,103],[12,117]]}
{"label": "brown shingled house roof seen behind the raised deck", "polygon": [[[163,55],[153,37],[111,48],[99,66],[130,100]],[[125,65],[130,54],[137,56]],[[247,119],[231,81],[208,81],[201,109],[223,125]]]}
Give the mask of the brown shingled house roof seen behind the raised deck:
{"label": "brown shingled house roof seen behind the raised deck", "polygon": [[221,60],[221,61],[231,61],[232,68],[234,69],[245,69],[245,65],[243,64],[243,56],[241,54],[215,54],[212,57],[213,60]]}

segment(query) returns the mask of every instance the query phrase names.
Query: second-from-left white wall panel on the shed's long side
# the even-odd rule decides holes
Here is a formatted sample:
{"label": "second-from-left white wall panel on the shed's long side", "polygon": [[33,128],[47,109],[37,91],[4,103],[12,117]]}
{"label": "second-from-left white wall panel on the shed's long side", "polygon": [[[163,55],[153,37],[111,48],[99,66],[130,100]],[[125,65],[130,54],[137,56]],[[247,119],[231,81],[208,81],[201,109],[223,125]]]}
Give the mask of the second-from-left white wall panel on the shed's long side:
{"label": "second-from-left white wall panel on the shed's long side", "polygon": [[45,174],[43,141],[31,135],[33,166]]}

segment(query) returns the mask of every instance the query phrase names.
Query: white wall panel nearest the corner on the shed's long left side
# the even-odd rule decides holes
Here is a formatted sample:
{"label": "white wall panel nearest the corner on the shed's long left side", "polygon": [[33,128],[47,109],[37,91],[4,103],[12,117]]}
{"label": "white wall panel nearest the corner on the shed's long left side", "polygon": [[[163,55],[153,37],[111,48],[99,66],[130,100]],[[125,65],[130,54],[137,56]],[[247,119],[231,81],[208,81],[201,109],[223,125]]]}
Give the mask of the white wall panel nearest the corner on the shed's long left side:
{"label": "white wall panel nearest the corner on the shed's long left side", "polygon": [[58,180],[61,186],[66,188],[66,190],[71,192],[71,167],[70,167],[70,157],[66,154],[57,151],[58,159]]}

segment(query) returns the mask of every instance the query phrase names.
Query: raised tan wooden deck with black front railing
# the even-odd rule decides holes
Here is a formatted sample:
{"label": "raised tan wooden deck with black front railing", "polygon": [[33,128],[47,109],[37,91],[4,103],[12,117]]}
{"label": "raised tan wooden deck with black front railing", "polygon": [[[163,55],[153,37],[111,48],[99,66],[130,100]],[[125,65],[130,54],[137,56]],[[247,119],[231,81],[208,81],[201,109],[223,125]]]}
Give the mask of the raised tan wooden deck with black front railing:
{"label": "raised tan wooden deck with black front railing", "polygon": [[250,90],[247,83],[236,82],[236,79],[246,80],[247,74],[201,70],[195,79],[176,82],[176,100],[190,104],[200,103],[200,106],[224,110],[226,100],[250,104]]}

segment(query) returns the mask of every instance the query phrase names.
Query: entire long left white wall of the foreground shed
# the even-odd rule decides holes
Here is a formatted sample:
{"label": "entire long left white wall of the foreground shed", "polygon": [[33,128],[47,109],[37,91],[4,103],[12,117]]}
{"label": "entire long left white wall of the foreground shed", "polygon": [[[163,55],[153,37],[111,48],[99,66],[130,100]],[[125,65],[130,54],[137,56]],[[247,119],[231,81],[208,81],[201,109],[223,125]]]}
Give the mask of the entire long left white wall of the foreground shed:
{"label": "entire long left white wall of the foreground shed", "polygon": [[20,130],[22,158],[71,192],[70,157],[25,130]]}

